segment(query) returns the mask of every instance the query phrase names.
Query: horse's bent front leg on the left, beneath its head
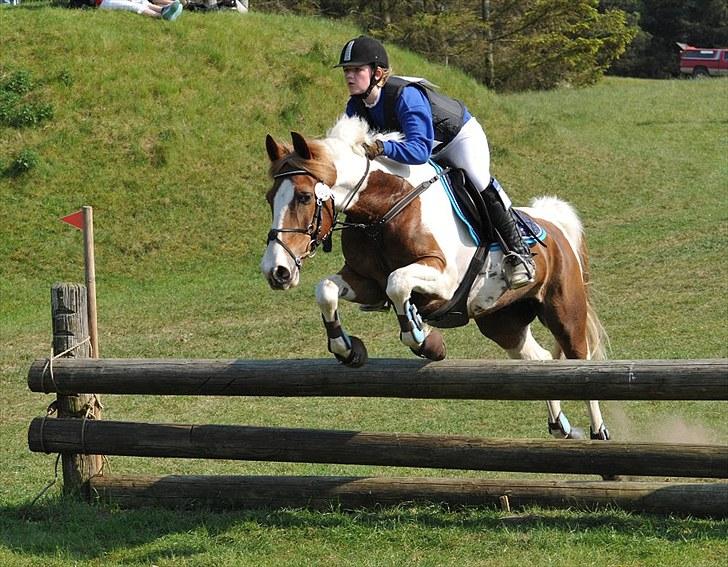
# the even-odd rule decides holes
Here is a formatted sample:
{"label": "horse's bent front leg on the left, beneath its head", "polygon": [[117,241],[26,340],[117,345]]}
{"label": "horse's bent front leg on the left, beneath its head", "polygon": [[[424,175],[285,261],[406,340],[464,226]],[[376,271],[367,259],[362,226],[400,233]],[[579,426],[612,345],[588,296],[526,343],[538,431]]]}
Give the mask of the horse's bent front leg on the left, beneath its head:
{"label": "horse's bent front leg on the left, beneath its head", "polygon": [[347,366],[358,368],[368,358],[366,346],[358,337],[349,335],[339,318],[339,299],[376,303],[384,299],[381,288],[361,278],[347,267],[338,274],[322,279],[316,286],[316,302],[326,327],[328,349]]}

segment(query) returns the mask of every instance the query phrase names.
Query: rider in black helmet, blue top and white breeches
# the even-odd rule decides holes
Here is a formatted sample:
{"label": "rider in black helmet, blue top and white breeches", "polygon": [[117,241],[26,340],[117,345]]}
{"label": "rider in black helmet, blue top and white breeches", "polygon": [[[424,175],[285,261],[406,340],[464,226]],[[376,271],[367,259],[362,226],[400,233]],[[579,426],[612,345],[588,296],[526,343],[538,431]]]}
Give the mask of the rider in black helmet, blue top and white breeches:
{"label": "rider in black helmet, blue top and white breeches", "polygon": [[399,131],[404,140],[365,145],[369,159],[386,156],[415,165],[430,157],[463,169],[483,197],[490,221],[505,245],[504,276],[511,289],[534,281],[535,265],[510,212],[511,201],[490,176],[488,139],[465,105],[421,79],[392,76],[384,46],[359,36],[341,50],[349,102],[346,114],[364,118],[373,129]]}

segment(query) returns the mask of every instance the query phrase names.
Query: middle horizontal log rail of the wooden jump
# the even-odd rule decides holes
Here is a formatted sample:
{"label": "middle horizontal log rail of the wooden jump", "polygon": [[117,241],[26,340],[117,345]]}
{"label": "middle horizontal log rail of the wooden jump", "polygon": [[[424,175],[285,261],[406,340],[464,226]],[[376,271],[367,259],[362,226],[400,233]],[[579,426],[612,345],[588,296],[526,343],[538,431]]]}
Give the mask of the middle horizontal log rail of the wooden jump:
{"label": "middle horizontal log rail of the wooden jump", "polygon": [[728,446],[483,439],[35,418],[32,451],[604,476],[728,478]]}

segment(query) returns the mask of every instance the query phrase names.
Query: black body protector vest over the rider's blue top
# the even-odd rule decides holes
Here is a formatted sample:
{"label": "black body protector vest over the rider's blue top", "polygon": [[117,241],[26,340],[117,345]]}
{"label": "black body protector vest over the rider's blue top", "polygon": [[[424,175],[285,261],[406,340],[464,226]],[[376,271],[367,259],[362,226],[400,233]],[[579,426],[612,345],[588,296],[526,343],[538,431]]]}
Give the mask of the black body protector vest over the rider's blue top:
{"label": "black body protector vest over the rider's blue top", "polygon": [[409,81],[402,77],[390,77],[382,87],[380,96],[384,97],[384,126],[380,128],[372,120],[369,109],[364,105],[361,98],[354,97],[354,108],[356,113],[364,118],[369,127],[373,130],[389,132],[401,132],[402,125],[397,118],[396,104],[402,89],[414,85],[427,97],[432,107],[432,121],[435,129],[435,141],[440,144],[433,150],[436,154],[444,148],[463,127],[465,116],[465,105],[454,98],[450,98],[436,91],[431,85],[424,81]]}

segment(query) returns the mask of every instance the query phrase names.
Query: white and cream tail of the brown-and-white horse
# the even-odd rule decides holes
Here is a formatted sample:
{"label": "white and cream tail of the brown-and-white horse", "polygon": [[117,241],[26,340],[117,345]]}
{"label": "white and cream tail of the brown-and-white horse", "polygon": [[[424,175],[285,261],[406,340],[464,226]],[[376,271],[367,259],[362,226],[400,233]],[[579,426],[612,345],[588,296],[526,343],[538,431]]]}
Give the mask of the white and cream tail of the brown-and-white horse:
{"label": "white and cream tail of the brown-and-white horse", "polygon": [[561,229],[579,260],[581,278],[586,291],[587,359],[605,360],[609,349],[609,336],[591,300],[589,254],[581,219],[574,207],[557,197],[538,197],[531,202],[531,207],[538,209],[539,214]]}

